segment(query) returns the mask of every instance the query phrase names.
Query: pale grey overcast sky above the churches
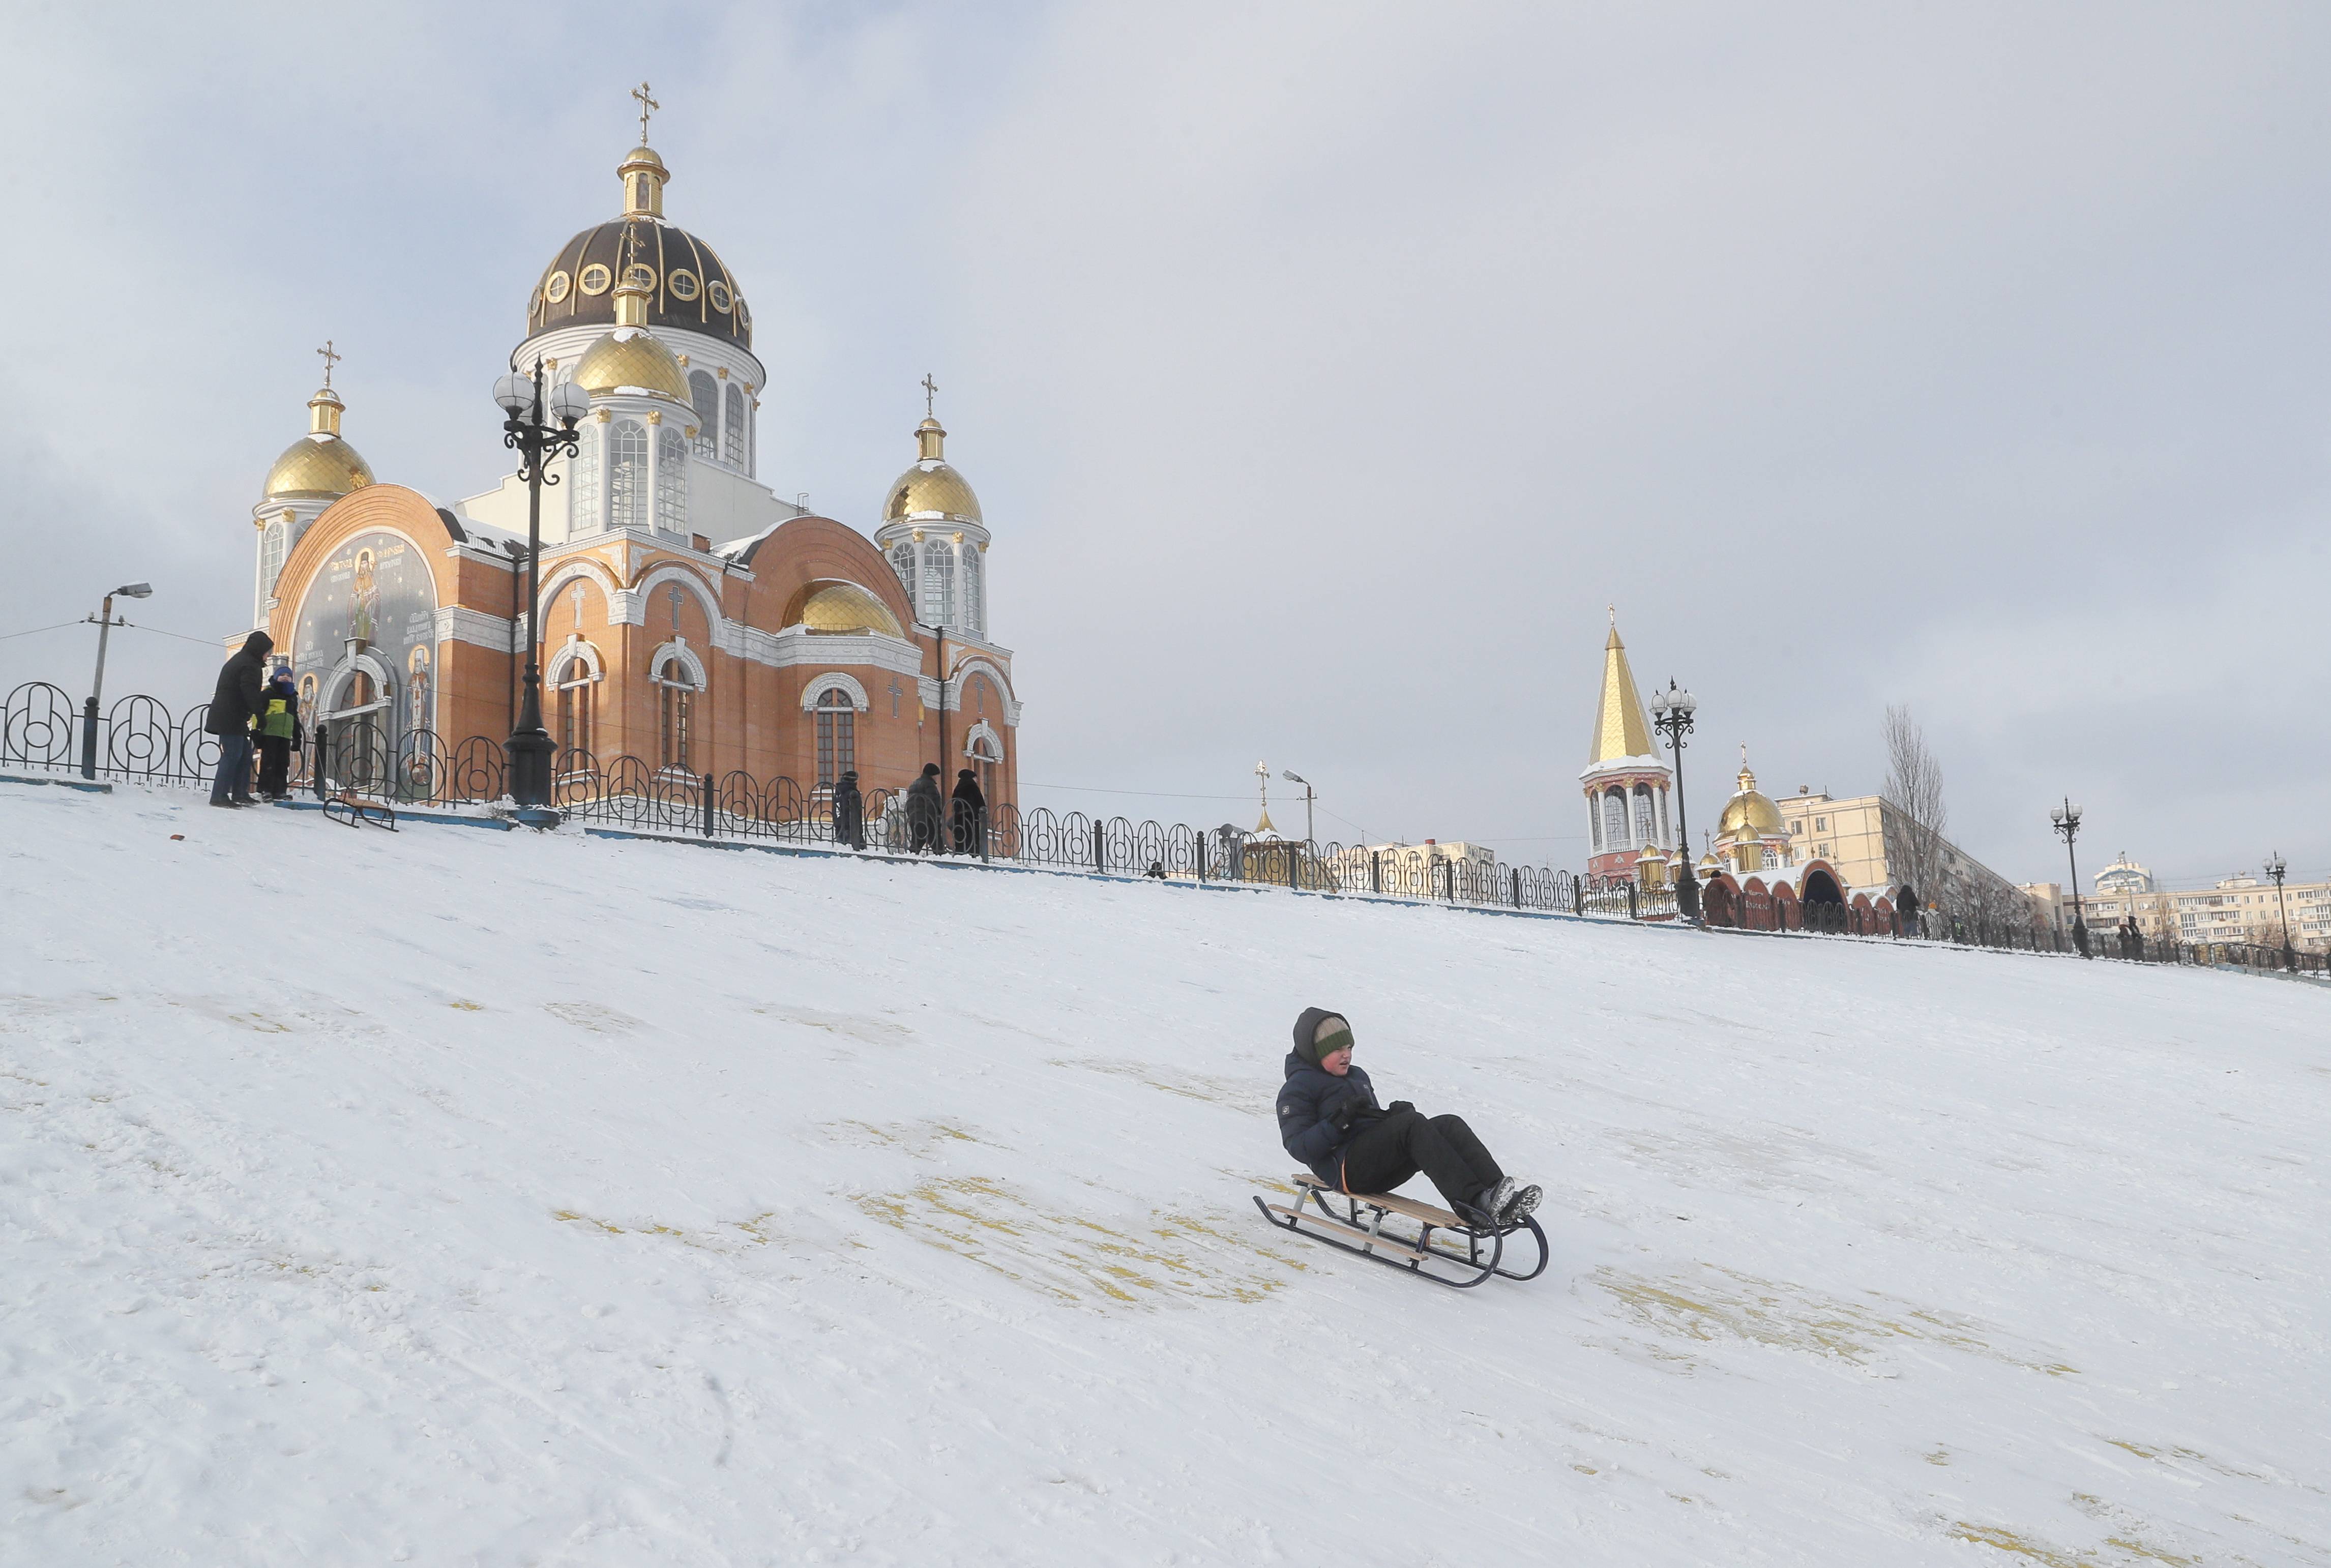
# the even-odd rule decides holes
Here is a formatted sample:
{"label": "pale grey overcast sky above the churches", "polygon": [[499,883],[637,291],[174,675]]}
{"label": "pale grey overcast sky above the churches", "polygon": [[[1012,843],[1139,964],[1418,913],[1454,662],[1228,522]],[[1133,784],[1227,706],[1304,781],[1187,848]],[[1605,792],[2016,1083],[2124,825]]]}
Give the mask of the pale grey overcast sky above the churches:
{"label": "pale grey overcast sky above the churches", "polygon": [[[487,489],[648,77],[762,480],[872,529],[937,375],[1030,804],[1252,822],[1268,760],[1322,839],[1576,867],[1615,603],[1699,694],[1695,825],[1739,743],[1774,797],[1876,790],[1907,704],[2016,881],[2065,792],[2084,869],[2331,871],[2331,9],[21,2],[0,42],[0,634],[124,578],[247,624],[324,338],[382,480]],[[91,655],[12,636],[0,683]],[[119,634],[107,687],[217,659]]]}

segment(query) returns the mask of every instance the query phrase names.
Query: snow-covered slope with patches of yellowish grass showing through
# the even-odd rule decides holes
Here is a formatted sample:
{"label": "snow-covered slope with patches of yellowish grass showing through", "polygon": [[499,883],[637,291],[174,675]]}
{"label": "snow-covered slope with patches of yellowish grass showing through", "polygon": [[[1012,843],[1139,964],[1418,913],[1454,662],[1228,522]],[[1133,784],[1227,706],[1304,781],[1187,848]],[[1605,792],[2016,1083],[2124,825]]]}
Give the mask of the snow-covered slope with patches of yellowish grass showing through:
{"label": "snow-covered slope with patches of yellowish grass showing through", "polygon": [[[1305,1004],[1545,1277],[1261,1223]],[[2296,983],[0,785],[0,1561],[2331,1563],[2326,1111]]]}

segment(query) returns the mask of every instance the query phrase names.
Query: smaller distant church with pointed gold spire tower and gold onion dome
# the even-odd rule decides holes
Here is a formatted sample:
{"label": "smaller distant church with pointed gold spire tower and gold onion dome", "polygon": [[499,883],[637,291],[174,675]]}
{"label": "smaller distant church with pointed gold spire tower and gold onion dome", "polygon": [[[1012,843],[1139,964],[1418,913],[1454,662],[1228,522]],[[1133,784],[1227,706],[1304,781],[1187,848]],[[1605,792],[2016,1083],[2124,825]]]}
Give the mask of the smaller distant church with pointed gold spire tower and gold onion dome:
{"label": "smaller distant church with pointed gold spire tower and gold onion dome", "polygon": [[[1653,739],[1615,610],[1611,636],[1604,638],[1601,692],[1578,785],[1587,799],[1587,876],[1599,883],[1632,878],[1648,890],[1667,888],[1690,846],[1681,836],[1674,769]],[[1797,850],[1781,808],[1758,790],[1755,774],[1748,771],[1746,746],[1695,881],[1711,925],[1802,930],[1807,904],[1851,902],[1876,920],[1890,920],[1895,909],[1893,888],[1851,890],[1828,857]]]}

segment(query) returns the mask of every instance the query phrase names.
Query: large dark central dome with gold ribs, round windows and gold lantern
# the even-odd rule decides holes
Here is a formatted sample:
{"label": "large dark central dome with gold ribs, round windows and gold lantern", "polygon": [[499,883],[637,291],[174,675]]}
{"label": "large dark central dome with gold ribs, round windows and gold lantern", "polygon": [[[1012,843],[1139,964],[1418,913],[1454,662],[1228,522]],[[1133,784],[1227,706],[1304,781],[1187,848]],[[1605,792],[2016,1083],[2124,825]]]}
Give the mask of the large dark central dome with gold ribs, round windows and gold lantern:
{"label": "large dark central dome with gold ribs, round windows and gold lantern", "polygon": [[713,247],[664,221],[664,161],[634,147],[618,170],[625,214],[559,247],[527,301],[527,336],[557,326],[613,326],[615,284],[648,284],[648,326],[727,338],[753,347],[753,315]]}

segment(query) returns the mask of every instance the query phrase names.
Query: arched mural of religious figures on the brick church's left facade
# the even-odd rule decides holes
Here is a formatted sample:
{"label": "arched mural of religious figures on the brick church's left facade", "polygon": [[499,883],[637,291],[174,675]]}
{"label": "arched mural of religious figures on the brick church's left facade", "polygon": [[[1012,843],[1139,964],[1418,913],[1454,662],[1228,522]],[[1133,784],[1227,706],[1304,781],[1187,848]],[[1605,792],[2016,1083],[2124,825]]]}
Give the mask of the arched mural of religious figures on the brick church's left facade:
{"label": "arched mural of religious figures on the brick church's left facade", "polygon": [[429,561],[387,531],[340,545],[310,580],[291,634],[291,666],[317,680],[308,718],[361,718],[385,743],[406,729],[427,729],[436,704],[434,662]]}

